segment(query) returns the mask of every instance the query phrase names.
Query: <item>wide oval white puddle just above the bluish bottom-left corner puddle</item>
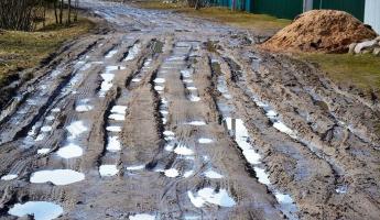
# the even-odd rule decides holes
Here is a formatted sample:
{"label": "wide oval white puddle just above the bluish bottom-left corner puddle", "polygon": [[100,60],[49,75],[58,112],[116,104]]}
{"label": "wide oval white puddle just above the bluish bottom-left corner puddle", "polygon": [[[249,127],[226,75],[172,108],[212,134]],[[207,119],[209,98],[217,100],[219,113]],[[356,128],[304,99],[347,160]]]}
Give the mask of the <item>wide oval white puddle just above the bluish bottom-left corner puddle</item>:
{"label": "wide oval white puddle just above the bluish bottom-left corner puddle", "polygon": [[31,176],[31,183],[44,184],[51,182],[54,185],[63,186],[82,182],[85,175],[73,169],[53,169],[35,172]]}

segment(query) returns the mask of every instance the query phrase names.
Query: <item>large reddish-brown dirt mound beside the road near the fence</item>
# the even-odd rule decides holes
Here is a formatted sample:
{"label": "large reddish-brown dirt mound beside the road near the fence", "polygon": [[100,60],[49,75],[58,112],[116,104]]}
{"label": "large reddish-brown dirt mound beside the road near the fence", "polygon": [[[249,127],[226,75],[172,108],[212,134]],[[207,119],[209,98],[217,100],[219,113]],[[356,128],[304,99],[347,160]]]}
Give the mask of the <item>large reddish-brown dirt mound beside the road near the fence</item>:
{"label": "large reddish-brown dirt mound beside the road near the fence", "polygon": [[344,53],[348,45],[377,34],[344,11],[313,10],[301,14],[261,45],[270,51]]}

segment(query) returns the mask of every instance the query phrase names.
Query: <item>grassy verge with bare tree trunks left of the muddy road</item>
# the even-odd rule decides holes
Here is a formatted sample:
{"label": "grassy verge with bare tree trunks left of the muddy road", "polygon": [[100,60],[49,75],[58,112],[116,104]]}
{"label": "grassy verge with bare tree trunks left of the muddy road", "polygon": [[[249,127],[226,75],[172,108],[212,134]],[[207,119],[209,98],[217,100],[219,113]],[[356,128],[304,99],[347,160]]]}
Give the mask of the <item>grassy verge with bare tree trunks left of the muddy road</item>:
{"label": "grassy verge with bare tree trunks left of the muddy road", "polygon": [[79,18],[77,23],[69,26],[55,24],[52,14],[53,11],[50,11],[46,25],[39,25],[35,32],[0,32],[0,87],[6,86],[13,73],[37,66],[65,41],[85,34],[95,26],[85,18]]}

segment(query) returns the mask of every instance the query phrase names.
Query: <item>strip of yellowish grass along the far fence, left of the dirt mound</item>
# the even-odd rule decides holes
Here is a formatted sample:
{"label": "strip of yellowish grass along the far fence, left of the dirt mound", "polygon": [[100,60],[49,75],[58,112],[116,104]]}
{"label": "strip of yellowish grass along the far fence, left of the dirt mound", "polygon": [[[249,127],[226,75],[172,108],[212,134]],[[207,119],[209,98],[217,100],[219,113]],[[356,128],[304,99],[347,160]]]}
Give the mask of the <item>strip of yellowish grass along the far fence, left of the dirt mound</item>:
{"label": "strip of yellowish grass along the far fence, left of the dirt mound", "polygon": [[195,10],[176,3],[162,3],[160,1],[140,1],[137,4],[145,9],[173,10],[191,16],[208,19],[232,26],[251,29],[258,32],[274,33],[291,23],[291,20],[278,19],[267,14],[253,14],[242,11],[231,11],[226,8],[210,7]]}

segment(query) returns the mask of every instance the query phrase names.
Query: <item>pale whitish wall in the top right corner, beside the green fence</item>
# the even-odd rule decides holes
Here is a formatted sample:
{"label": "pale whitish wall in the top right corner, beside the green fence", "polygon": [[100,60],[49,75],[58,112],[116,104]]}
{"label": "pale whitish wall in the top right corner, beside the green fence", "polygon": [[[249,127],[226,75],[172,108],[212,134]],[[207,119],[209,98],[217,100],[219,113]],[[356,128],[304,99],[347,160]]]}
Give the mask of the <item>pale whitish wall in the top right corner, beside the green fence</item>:
{"label": "pale whitish wall in the top right corner, beside the green fence", "polygon": [[380,0],[366,0],[365,23],[380,34]]}

